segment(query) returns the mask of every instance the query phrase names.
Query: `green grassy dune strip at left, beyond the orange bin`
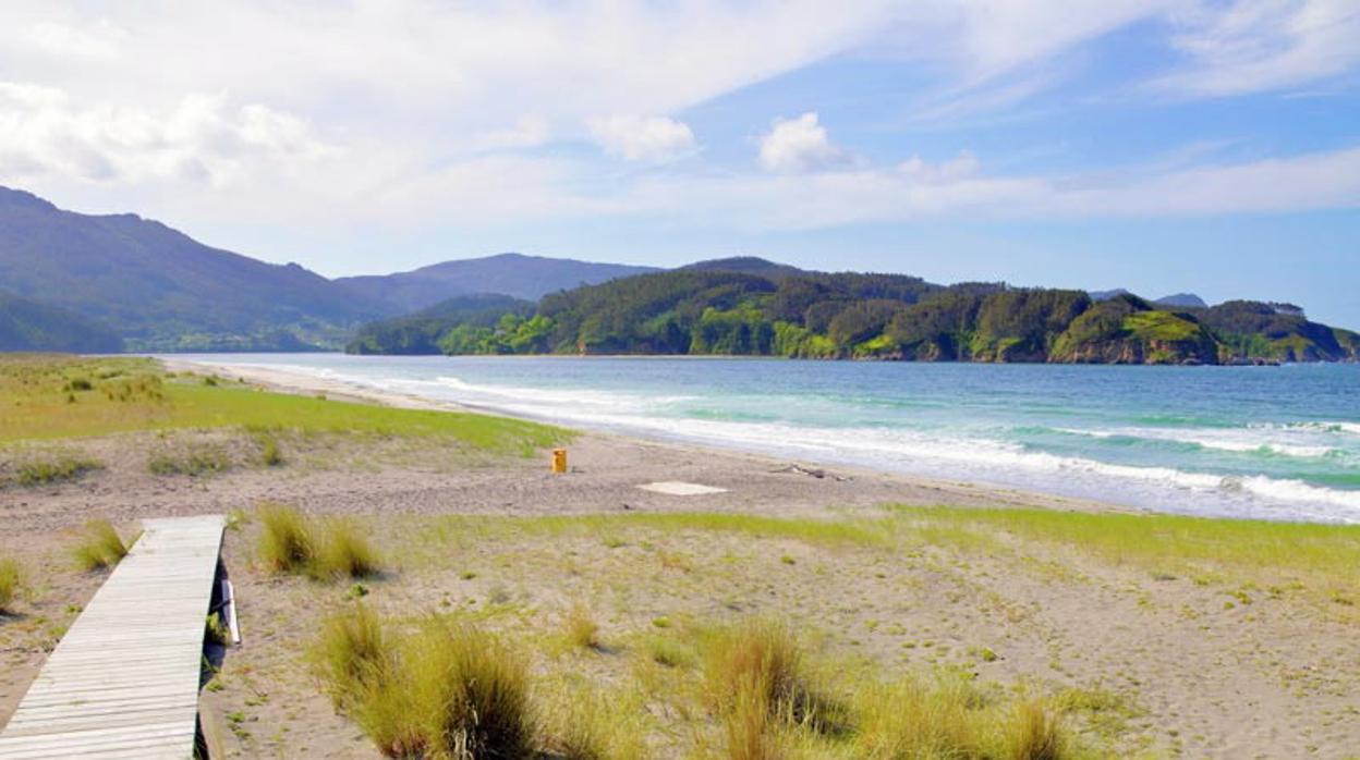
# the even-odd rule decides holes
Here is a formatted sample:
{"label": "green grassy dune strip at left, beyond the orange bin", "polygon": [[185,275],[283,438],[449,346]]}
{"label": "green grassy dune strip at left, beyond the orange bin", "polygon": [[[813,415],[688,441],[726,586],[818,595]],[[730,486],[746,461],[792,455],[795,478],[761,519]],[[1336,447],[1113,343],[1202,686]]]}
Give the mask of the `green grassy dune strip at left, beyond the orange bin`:
{"label": "green grassy dune strip at left, beyond the orange bin", "polygon": [[[90,390],[71,390],[72,377]],[[220,379],[205,385],[199,378],[171,377],[158,362],[137,358],[7,356],[0,359],[0,397],[14,400],[0,407],[0,441],[248,427],[426,436],[477,451],[528,455],[571,436],[563,428],[506,417],[330,401]]]}

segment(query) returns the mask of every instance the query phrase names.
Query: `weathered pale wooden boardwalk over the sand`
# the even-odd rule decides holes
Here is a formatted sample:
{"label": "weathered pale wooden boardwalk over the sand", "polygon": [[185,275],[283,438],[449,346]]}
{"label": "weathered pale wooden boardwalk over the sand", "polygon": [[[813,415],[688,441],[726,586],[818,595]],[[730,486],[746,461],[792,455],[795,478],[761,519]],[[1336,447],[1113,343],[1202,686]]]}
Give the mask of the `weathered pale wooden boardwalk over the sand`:
{"label": "weathered pale wooden boardwalk over the sand", "polygon": [[0,733],[0,759],[193,755],[222,526],[143,521]]}

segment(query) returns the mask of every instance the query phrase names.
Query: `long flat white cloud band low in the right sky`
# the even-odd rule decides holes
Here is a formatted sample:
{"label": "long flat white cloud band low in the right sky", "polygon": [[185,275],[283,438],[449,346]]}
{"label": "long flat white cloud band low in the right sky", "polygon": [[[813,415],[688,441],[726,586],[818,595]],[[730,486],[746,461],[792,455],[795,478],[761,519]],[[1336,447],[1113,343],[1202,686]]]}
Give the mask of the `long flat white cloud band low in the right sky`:
{"label": "long flat white cloud band low in the right sky", "polygon": [[798,231],[923,219],[1110,219],[1360,208],[1360,147],[1123,177],[987,175],[971,155],[805,175],[647,178],[628,212]]}

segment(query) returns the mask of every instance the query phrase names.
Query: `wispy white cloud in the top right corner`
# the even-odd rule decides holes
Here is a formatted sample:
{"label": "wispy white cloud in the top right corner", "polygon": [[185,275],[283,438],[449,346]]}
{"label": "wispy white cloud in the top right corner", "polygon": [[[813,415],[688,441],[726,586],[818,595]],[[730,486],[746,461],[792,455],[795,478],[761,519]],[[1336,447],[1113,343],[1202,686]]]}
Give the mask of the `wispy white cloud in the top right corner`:
{"label": "wispy white cloud in the top right corner", "polygon": [[1193,5],[1174,16],[1172,46],[1190,67],[1156,84],[1194,95],[1293,87],[1360,64],[1353,0],[1238,0]]}

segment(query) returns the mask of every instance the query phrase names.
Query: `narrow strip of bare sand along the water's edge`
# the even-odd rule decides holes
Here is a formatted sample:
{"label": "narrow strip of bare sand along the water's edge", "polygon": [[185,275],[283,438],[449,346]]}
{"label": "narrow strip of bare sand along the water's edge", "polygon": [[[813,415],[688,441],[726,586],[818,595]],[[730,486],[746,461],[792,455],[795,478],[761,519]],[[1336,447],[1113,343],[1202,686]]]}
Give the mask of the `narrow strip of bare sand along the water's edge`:
{"label": "narrow strip of bare sand along the water's edge", "polygon": [[[477,415],[490,415],[507,419],[522,419],[529,421],[558,424],[558,423],[551,423],[549,420],[506,413],[500,409],[471,405],[471,404],[457,404],[453,401],[437,401],[420,396],[379,390],[373,387],[359,387],[343,381],[332,381],[306,373],[295,373],[273,367],[242,367],[235,364],[218,364],[212,362],[194,362],[188,359],[171,359],[165,356],[159,356],[156,359],[162,362],[165,367],[170,371],[177,371],[177,373],[208,371],[224,377],[237,377],[277,393],[303,394],[303,396],[321,393],[325,394],[326,398],[354,401],[360,404],[379,404],[404,409],[471,412]],[[559,426],[559,427],[568,427],[568,426]],[[646,438],[639,435],[627,435],[620,432],[598,431],[598,430],[582,430],[582,428],[571,428],[571,430],[577,430],[577,432],[579,432],[582,438],[586,438],[598,445],[604,445],[607,447],[611,443],[619,447],[639,447],[639,446],[653,447],[669,451],[676,455],[702,455],[709,460],[745,462],[748,465],[764,466],[767,468],[768,472],[774,472],[772,469],[768,468],[787,468],[790,465],[797,465],[801,466],[805,472],[820,470],[826,473],[845,473],[855,481],[872,481],[877,485],[885,485],[889,488],[894,484],[896,484],[903,489],[911,492],[922,492],[922,491],[934,492],[940,495],[941,503],[947,504],[967,503],[971,506],[1043,507],[1043,508],[1064,510],[1064,511],[1163,514],[1157,513],[1156,510],[1148,510],[1126,504],[1115,504],[1099,499],[1062,496],[1058,494],[1046,494],[1042,491],[1010,488],[1006,485],[976,481],[976,480],[962,480],[962,479],[944,480],[944,479],[933,479],[925,476],[904,474],[899,472],[881,470],[866,466],[840,465],[840,464],[827,465],[821,462],[797,461],[797,460],[790,460],[789,457],[779,457],[777,454],[763,454],[734,447],[728,449],[718,446],[704,446],[700,443],[665,441],[658,438]]]}

